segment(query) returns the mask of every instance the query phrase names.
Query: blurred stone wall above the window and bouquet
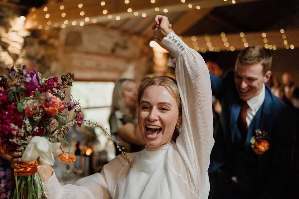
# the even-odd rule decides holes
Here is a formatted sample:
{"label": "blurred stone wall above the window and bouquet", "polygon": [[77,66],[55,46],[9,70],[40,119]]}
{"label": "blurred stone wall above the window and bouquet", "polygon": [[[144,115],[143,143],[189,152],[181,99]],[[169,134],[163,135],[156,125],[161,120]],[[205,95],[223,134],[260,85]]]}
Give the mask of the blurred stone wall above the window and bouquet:
{"label": "blurred stone wall above the window and bouquet", "polygon": [[24,29],[20,13],[0,8],[0,69],[26,64],[43,77],[75,73],[77,81],[140,81],[152,70],[148,41],[93,24],[65,29]]}

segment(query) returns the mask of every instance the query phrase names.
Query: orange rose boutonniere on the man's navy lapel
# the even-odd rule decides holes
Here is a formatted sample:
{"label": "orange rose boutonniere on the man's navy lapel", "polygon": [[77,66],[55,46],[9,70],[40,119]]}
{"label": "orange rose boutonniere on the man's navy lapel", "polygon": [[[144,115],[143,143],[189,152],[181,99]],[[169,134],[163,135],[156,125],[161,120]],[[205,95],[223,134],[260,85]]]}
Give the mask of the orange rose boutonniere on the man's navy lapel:
{"label": "orange rose boutonniere on the man's navy lapel", "polygon": [[251,148],[254,153],[262,155],[269,149],[269,135],[265,131],[255,130],[255,136],[250,139]]}

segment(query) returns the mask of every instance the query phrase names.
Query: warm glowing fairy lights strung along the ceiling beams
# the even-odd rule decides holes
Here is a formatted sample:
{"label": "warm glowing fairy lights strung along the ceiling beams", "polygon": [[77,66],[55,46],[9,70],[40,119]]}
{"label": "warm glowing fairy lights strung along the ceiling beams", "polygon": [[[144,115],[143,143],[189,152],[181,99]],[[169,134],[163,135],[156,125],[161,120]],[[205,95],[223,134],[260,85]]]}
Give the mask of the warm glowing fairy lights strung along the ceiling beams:
{"label": "warm glowing fairy lights strung along the ceiling beams", "polygon": [[[148,1],[150,1],[151,3],[155,3],[156,2],[156,0],[148,0]],[[186,0],[180,0],[183,4],[185,4],[186,3]],[[226,2],[226,1],[228,1],[228,0],[223,0],[224,2]],[[124,0],[124,3],[125,4],[127,4],[127,5],[130,5],[130,0]],[[236,0],[232,0],[231,1],[231,3],[232,4],[235,4],[236,3]],[[103,15],[107,15],[107,18],[108,19],[112,19],[112,18],[114,18],[116,21],[119,21],[119,20],[121,20],[121,16],[118,16],[118,15],[112,15],[112,14],[109,14],[108,13],[108,10],[107,10],[107,8],[105,9],[105,5],[106,5],[106,2],[105,1],[102,1],[102,2],[100,2],[100,5],[103,7],[103,10],[102,10],[102,14]],[[199,5],[192,5],[192,4],[188,4],[187,5],[187,7],[189,7],[189,8],[193,8],[193,7],[195,7],[197,10],[200,10],[201,9],[201,7],[199,6]],[[83,3],[78,3],[78,8],[79,8],[79,15],[81,16],[81,17],[84,17],[84,15],[85,15],[85,12],[84,12],[84,5],[83,5]],[[66,13],[66,11],[65,11],[65,7],[64,7],[64,5],[60,5],[59,6],[59,9],[61,10],[61,17],[65,17],[65,16],[67,16],[67,13]],[[168,8],[169,9],[169,8]],[[161,11],[163,11],[164,13],[167,13],[168,12],[168,9],[167,8],[163,8],[163,7],[155,7],[154,8],[154,11],[155,12],[161,12]],[[32,7],[31,8],[31,11],[34,13],[35,11],[36,11],[36,8],[35,7]],[[56,27],[58,27],[59,26],[59,23],[57,23],[57,22],[55,22],[55,23],[52,23],[52,21],[50,20],[50,14],[49,13],[47,13],[47,11],[48,11],[48,7],[44,7],[43,8],[43,11],[45,12],[45,18],[46,19],[49,19],[48,21],[47,21],[47,24],[43,27],[43,25],[38,25],[38,22],[37,21],[34,21],[33,22],[33,25],[34,26],[37,26],[37,28],[38,29],[43,29],[44,28],[44,30],[49,30],[50,29],[50,25],[53,25],[55,28]],[[144,12],[144,13],[139,13],[139,12],[137,12],[137,11],[135,11],[134,12],[134,10],[131,8],[131,7],[128,7],[127,8],[127,12],[128,13],[132,13],[134,16],[142,16],[142,17],[146,17],[147,16],[147,14]],[[21,17],[24,17],[24,16],[21,16]],[[36,15],[36,14],[33,14],[32,15],[32,18],[33,19],[36,19],[38,16]],[[22,18],[23,19],[23,18]],[[24,20],[24,19],[23,19]],[[26,18],[25,18],[25,20],[26,20]],[[24,20],[24,21],[25,21]],[[92,23],[97,23],[97,19],[96,18],[93,18],[93,19],[90,19],[89,17],[85,17],[84,18],[84,20],[82,20],[82,21],[72,21],[72,22],[70,22],[70,21],[68,21],[68,20],[64,20],[63,21],[63,23],[60,25],[60,27],[62,28],[62,29],[64,29],[64,28],[66,28],[67,27],[67,25],[73,25],[73,26],[75,26],[75,25],[80,25],[80,26],[83,26],[83,25],[85,25],[85,23],[86,22],[88,22],[88,21],[91,21]],[[280,30],[280,32],[281,32],[281,34],[282,34],[282,39],[284,39],[283,40],[283,43],[284,43],[284,45],[285,45],[285,48],[286,49],[294,49],[294,45],[293,44],[288,44],[288,42],[287,42],[287,39],[286,39],[286,35],[284,34],[284,30],[283,29],[281,29]],[[212,41],[211,41],[211,38],[209,37],[209,35],[208,34],[204,34],[203,35],[204,36],[204,38],[205,38],[205,41],[206,41],[206,48],[200,48],[199,46],[198,46],[198,42],[197,42],[197,37],[196,36],[192,36],[191,37],[191,40],[192,40],[192,44],[193,44],[193,49],[195,49],[196,51],[199,51],[199,52],[202,52],[202,53],[206,53],[207,51],[210,51],[210,52],[220,52],[220,48],[219,47],[214,47],[213,45],[212,45]],[[235,51],[235,47],[234,46],[231,46],[230,44],[229,44],[229,42],[228,42],[228,40],[227,40],[227,38],[226,38],[226,35],[225,35],[225,33],[224,32],[221,32],[221,34],[220,34],[220,36],[221,36],[221,39],[222,39],[222,41],[223,41],[223,44],[224,44],[224,46],[226,47],[226,50],[227,51]],[[179,36],[180,38],[182,38],[181,36]],[[277,47],[275,46],[275,45],[273,45],[273,44],[268,44],[268,39],[267,39],[267,35],[266,35],[266,33],[262,33],[262,37],[263,37],[263,42],[265,43],[264,44],[264,47],[266,48],[266,49],[270,49],[270,50],[276,50],[277,49]],[[249,44],[248,44],[248,42],[247,42],[247,39],[246,39],[246,37],[245,37],[245,34],[243,33],[243,32],[241,32],[240,33],[240,38],[241,38],[241,40],[242,40],[242,42],[244,43],[244,47],[248,47],[249,46]],[[150,46],[151,47],[154,47],[155,46],[155,42],[154,41],[151,41],[150,42]]]}

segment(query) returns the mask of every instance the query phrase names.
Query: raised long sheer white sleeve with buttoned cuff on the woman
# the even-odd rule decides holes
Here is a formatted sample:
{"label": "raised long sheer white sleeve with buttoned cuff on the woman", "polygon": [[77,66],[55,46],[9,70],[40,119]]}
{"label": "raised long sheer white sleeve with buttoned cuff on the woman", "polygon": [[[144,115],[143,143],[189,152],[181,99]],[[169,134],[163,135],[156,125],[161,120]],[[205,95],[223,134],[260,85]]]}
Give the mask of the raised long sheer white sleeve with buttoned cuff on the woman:
{"label": "raised long sheer white sleeve with buttoned cuff on the woman", "polygon": [[162,44],[177,59],[176,80],[182,100],[182,132],[176,145],[190,172],[188,184],[197,197],[205,191],[210,154],[214,145],[212,92],[202,56],[177,35],[169,33]]}

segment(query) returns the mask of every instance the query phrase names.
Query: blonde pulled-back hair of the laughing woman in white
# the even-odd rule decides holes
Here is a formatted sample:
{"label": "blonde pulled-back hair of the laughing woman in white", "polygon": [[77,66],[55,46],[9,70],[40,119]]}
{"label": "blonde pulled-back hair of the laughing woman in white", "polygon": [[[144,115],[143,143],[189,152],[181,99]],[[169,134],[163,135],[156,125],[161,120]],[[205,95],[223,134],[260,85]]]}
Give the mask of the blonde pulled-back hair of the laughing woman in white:
{"label": "blonde pulled-back hair of the laughing woman in white", "polygon": [[152,78],[146,77],[141,81],[141,83],[138,87],[138,91],[137,91],[138,109],[140,106],[140,98],[141,98],[142,93],[145,91],[145,89],[147,89],[148,87],[150,87],[152,85],[164,86],[168,90],[170,95],[177,102],[179,114],[182,113],[182,103],[181,103],[181,97],[180,97],[180,93],[178,90],[177,82],[175,81],[175,79],[173,79],[172,77],[168,77],[168,76],[154,76]]}

